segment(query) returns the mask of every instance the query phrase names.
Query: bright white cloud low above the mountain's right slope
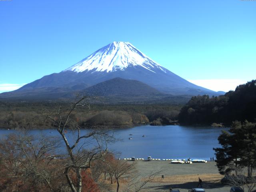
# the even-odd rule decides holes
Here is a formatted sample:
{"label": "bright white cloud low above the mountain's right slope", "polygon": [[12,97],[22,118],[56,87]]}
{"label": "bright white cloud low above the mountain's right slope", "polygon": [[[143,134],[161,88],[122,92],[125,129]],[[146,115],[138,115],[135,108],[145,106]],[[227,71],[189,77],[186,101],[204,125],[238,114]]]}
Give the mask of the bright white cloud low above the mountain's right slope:
{"label": "bright white cloud low above the mountain's right slope", "polygon": [[213,90],[213,91],[225,91],[235,90],[236,86],[245,84],[247,81],[242,79],[198,79],[188,80],[198,86]]}

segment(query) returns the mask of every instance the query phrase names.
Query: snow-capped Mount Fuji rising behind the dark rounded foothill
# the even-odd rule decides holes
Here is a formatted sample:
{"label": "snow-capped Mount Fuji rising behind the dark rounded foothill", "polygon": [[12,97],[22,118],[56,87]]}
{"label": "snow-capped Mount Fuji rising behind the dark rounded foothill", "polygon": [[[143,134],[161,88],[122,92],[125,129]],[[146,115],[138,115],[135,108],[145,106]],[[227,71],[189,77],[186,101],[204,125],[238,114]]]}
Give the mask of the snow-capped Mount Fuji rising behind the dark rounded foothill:
{"label": "snow-capped Mount Fuji rising behind the dark rounded foothill", "polygon": [[219,95],[197,86],[164,68],[129,42],[112,42],[59,73],[44,76],[1,97],[47,96],[84,90],[113,78],[137,80],[163,94]]}

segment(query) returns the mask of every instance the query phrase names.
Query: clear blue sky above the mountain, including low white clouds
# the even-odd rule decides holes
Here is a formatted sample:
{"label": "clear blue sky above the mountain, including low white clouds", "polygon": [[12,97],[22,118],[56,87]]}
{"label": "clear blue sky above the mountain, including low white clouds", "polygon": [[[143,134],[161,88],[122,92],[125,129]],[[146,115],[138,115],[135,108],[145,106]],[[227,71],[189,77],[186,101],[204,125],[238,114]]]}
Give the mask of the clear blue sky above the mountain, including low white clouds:
{"label": "clear blue sky above the mountain, including low white clouds", "polygon": [[128,41],[198,85],[256,78],[256,1],[1,0],[0,92]]}

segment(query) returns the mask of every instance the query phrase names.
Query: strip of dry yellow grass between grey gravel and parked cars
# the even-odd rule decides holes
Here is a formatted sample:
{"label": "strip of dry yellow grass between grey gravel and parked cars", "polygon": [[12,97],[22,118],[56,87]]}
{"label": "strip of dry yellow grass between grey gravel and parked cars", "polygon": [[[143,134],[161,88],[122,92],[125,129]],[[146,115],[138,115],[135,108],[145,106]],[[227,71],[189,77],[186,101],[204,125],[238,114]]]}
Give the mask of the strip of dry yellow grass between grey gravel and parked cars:
{"label": "strip of dry yellow grass between grey gravel and parked cars", "polygon": [[189,175],[173,175],[165,176],[164,179],[158,177],[152,182],[157,183],[172,183],[172,184],[183,184],[188,182],[198,182],[198,177],[202,179],[203,182],[217,183],[223,178],[220,174],[189,174]]}

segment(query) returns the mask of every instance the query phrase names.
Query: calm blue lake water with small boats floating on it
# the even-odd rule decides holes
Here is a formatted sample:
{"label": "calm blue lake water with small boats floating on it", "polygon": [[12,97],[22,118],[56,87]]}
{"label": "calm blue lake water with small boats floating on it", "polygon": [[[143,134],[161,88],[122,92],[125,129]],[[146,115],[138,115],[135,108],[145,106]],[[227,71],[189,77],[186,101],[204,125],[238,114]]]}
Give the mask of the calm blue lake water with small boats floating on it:
{"label": "calm blue lake water with small boats floating on it", "polygon": [[[218,136],[221,130],[228,128],[198,127],[198,126],[138,126],[134,128],[114,130],[115,136],[121,141],[108,147],[115,152],[121,152],[120,158],[168,158],[168,159],[206,159],[214,156],[212,148],[220,146]],[[16,130],[0,130],[3,137]],[[88,132],[82,130],[82,133]],[[31,130],[31,134],[57,136],[56,130]],[[132,134],[132,136],[129,136]],[[146,137],[142,137],[145,135]],[[71,134],[70,140],[74,139]],[[128,138],[132,137],[132,140]]]}

